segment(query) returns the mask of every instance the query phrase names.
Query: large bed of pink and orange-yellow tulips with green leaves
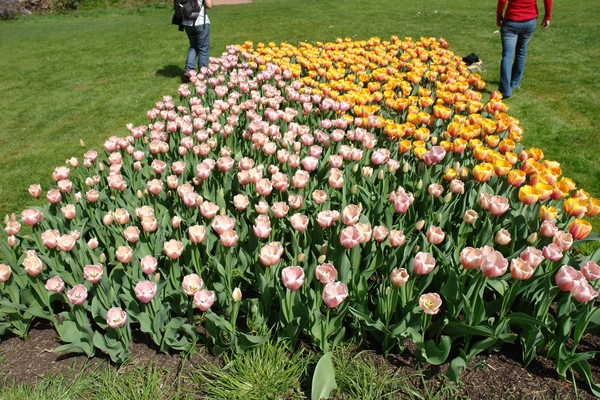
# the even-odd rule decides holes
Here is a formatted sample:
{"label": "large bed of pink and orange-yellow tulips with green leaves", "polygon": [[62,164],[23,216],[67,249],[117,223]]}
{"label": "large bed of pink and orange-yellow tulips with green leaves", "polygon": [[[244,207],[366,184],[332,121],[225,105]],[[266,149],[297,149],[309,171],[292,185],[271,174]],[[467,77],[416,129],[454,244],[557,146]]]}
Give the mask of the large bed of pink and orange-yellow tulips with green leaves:
{"label": "large bed of pink and orange-yellow tulips with green leaves", "polygon": [[573,246],[600,202],[484,86],[443,39],[230,46],[30,186],[48,203],[5,221],[0,335],[43,318],[56,351],[116,362],[134,329],[165,352],[411,340],[422,362],[454,349],[454,379],[519,341],[599,390],[577,345],[600,251]]}

